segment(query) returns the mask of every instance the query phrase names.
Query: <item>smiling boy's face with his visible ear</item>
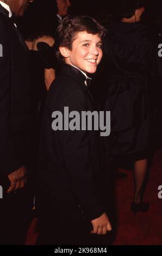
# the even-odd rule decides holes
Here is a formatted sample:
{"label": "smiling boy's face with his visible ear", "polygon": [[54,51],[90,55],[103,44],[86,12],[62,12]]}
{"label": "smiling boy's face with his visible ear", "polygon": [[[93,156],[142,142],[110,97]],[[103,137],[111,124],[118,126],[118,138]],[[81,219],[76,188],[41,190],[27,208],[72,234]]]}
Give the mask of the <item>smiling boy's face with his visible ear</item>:
{"label": "smiling boy's face with his visible ear", "polygon": [[[73,41],[72,50],[62,47],[65,63],[76,66],[86,73],[95,73],[102,59],[102,41],[98,34],[79,32]],[[61,47],[60,47],[61,48]]]}

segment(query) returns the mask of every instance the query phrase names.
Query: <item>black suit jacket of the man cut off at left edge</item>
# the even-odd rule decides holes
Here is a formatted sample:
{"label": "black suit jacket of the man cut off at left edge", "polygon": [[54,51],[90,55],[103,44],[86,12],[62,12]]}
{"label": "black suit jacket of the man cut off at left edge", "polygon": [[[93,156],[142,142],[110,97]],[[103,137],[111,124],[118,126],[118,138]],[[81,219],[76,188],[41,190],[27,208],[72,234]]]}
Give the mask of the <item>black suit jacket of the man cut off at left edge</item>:
{"label": "black suit jacket of the man cut off at left edge", "polygon": [[20,168],[30,126],[28,49],[0,4],[0,177]]}

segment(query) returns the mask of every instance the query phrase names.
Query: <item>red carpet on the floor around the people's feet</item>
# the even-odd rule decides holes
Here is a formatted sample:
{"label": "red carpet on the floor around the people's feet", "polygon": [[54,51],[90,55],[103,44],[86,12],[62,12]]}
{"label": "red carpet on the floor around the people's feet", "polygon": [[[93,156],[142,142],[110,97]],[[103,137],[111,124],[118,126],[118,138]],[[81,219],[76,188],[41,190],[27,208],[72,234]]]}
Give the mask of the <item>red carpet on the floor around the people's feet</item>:
{"label": "red carpet on the floor around the people's feet", "polygon": [[[149,211],[139,212],[136,216],[130,211],[133,198],[133,175],[130,170],[120,169],[127,178],[116,181],[117,230],[114,245],[162,245],[162,199],[158,198],[158,187],[162,185],[162,149],[153,159],[149,174],[145,202],[149,202]],[[30,224],[26,245],[36,241],[34,218]]]}

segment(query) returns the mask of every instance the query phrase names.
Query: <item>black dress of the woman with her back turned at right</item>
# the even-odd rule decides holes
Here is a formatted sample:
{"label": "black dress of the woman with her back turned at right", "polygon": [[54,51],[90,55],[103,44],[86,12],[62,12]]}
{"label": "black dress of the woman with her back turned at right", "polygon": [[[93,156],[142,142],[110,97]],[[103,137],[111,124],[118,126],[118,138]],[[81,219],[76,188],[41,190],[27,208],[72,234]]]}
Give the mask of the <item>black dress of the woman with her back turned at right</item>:
{"label": "black dress of the woman with her back turned at right", "polygon": [[148,29],[140,23],[113,22],[104,40],[107,93],[104,109],[111,111],[107,155],[145,159],[151,143],[154,108],[154,50]]}

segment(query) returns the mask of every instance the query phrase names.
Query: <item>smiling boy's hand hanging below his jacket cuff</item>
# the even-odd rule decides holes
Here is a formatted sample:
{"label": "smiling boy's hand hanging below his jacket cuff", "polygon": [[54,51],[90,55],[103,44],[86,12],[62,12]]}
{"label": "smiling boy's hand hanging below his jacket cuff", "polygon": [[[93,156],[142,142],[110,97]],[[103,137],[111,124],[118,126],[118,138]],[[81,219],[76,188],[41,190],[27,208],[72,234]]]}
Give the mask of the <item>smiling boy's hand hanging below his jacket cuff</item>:
{"label": "smiling boy's hand hanging below his jacket cuff", "polygon": [[91,234],[105,235],[107,234],[107,231],[111,231],[112,229],[108,216],[105,212],[99,218],[92,220],[91,223],[94,228],[91,231]]}

